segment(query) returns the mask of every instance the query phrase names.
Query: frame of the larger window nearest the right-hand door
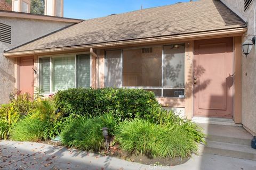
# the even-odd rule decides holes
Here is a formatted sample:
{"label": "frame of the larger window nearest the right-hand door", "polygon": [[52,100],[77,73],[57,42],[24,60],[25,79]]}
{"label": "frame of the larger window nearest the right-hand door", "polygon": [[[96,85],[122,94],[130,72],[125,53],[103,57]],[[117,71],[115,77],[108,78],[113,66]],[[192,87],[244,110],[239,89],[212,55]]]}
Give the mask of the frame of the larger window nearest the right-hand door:
{"label": "frame of the larger window nearest the right-hand door", "polygon": [[[179,45],[182,44],[184,45],[184,70],[185,70],[185,57],[186,57],[186,43],[185,42],[179,42],[179,43],[171,43],[171,44],[162,44],[162,45],[152,45],[152,46],[141,46],[141,47],[127,47],[127,48],[118,48],[118,49],[105,49],[104,52],[104,60],[106,58],[106,52],[111,51],[111,50],[120,50],[121,51],[121,86],[120,87],[115,87],[115,88],[126,88],[126,89],[161,89],[161,96],[156,96],[158,98],[181,98],[184,99],[185,98],[185,81],[184,81],[184,87],[164,87],[164,47],[165,46],[170,46],[170,45]],[[162,70],[162,87],[127,87],[127,86],[123,86],[123,50],[126,49],[142,49],[142,48],[149,48],[149,47],[162,47],[162,65],[161,65],[161,70]],[[104,62],[104,66],[105,66],[105,62]],[[105,73],[104,73],[104,77],[105,77]],[[184,74],[185,77],[185,74]],[[105,80],[104,80],[104,87],[108,87],[105,86]],[[184,94],[182,95],[182,97],[165,97],[163,96],[163,91],[164,89],[184,89]]]}

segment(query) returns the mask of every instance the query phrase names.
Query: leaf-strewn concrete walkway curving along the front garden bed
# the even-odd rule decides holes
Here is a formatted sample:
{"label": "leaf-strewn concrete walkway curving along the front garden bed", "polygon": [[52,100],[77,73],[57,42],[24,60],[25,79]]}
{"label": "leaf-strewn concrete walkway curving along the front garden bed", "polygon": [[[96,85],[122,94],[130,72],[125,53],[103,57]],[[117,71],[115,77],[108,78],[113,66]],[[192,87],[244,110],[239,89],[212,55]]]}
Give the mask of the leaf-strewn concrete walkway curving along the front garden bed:
{"label": "leaf-strewn concrete walkway curving along the front garden bed", "polygon": [[182,165],[156,167],[43,143],[0,141],[0,169],[255,170],[256,161],[203,154]]}

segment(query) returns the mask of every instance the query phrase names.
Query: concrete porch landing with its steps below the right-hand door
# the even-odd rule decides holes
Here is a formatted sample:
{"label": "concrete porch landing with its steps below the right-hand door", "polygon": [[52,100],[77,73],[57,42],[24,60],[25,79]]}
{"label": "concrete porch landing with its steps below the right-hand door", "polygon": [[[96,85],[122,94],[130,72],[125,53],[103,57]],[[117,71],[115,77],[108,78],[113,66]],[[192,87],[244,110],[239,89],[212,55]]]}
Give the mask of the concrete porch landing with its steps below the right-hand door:
{"label": "concrete porch landing with its steps below the right-hand door", "polygon": [[233,158],[256,160],[251,148],[253,136],[241,126],[197,123],[204,129],[207,145],[200,152]]}

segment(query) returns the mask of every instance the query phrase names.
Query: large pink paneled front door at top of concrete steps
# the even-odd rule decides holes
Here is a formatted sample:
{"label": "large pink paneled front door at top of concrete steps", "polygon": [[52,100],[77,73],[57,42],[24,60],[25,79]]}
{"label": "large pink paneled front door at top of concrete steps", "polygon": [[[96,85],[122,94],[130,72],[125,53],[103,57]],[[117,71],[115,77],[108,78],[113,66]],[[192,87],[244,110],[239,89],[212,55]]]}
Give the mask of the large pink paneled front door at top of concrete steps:
{"label": "large pink paneled front door at top of concrete steps", "polygon": [[233,38],[195,41],[194,115],[231,118]]}

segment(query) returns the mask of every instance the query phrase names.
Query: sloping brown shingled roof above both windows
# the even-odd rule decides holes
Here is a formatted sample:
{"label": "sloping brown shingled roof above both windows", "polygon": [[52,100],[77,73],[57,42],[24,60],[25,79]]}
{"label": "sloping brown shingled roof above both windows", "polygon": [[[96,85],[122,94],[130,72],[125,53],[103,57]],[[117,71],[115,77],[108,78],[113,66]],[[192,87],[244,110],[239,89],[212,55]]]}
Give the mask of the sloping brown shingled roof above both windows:
{"label": "sloping brown shingled roof above both windows", "polygon": [[201,0],[85,20],[6,53],[242,27],[245,22],[220,1]]}

